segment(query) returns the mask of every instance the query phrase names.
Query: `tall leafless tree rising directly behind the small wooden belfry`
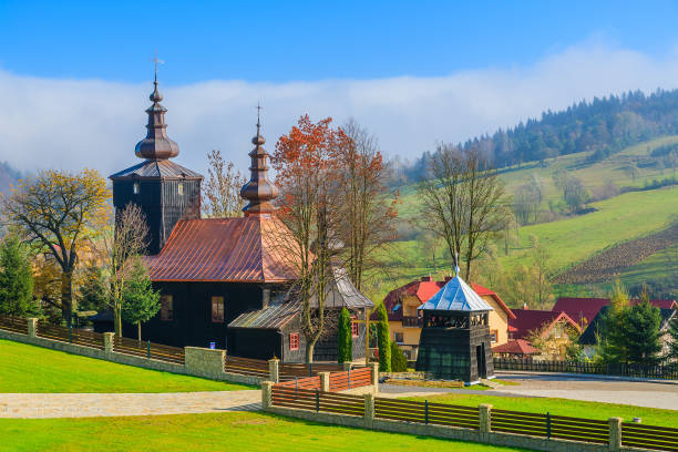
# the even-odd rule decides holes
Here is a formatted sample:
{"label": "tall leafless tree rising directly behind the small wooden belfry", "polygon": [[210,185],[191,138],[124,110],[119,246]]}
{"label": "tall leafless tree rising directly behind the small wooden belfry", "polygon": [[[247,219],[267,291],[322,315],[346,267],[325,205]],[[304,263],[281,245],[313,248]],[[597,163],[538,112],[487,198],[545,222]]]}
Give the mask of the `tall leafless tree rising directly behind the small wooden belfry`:
{"label": "tall leafless tree rising directly behind the small wooden belfry", "polygon": [[423,226],[442,237],[454,265],[465,260],[465,276],[490,238],[505,228],[504,186],[480,151],[441,144],[418,184]]}

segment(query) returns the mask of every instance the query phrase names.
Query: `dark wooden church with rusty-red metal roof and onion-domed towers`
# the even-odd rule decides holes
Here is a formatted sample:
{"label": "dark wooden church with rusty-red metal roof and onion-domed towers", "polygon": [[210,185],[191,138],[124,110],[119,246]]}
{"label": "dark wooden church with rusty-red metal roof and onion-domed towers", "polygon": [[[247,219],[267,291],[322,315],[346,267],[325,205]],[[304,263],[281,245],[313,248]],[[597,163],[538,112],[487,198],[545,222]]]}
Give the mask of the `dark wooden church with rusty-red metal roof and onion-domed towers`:
{"label": "dark wooden church with rusty-red metal roof and onion-domed towers", "polygon": [[[111,176],[116,212],[135,203],[150,227],[146,265],[162,307],[143,325],[143,339],[178,347],[215,342],[238,357],[304,361],[300,305],[286,298],[297,271],[279,246],[290,232],[276,216],[278,188],[268,179],[260,123],[249,153],[250,178],[240,191],[248,201],[244,216],[201,218],[203,176],[172,161],[179,150],[166,133],[157,78],[154,85],[147,134],[135,148],[142,162]],[[364,318],[372,302],[342,268],[332,270],[328,309],[347,307],[356,319]],[[364,323],[355,322],[352,331],[353,358],[364,357]],[[123,333],[135,337],[130,326]],[[326,337],[314,359],[336,361],[336,332]]]}

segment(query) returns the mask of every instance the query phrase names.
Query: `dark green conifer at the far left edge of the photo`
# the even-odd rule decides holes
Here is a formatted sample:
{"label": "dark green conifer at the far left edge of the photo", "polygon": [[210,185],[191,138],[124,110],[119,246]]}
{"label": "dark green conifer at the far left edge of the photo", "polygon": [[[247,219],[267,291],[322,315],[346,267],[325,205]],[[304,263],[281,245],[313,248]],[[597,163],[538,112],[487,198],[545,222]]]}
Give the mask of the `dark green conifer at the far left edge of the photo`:
{"label": "dark green conifer at the far left edge of the photo", "polygon": [[0,314],[27,316],[37,310],[32,300],[31,263],[19,237],[10,235],[0,244]]}

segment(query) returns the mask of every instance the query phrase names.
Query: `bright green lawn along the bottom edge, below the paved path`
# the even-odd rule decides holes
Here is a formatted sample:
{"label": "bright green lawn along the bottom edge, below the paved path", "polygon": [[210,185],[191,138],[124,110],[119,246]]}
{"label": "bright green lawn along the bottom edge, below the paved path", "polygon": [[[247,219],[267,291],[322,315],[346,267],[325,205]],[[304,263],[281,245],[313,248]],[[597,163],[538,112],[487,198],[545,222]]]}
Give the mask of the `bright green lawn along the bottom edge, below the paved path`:
{"label": "bright green lawn along the bottom edge, below the paved path", "polygon": [[264,413],[0,420],[0,451],[517,451]]}

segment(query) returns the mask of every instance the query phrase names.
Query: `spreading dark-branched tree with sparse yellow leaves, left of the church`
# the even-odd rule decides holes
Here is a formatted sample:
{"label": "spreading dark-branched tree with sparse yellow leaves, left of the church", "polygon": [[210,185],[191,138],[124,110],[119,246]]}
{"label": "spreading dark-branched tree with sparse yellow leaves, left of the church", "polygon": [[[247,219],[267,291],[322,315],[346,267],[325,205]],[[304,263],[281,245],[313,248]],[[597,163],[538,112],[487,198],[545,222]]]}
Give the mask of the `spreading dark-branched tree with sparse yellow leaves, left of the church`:
{"label": "spreading dark-branched tree with sparse yellow leaves, left of the church", "polygon": [[21,181],[17,189],[2,198],[3,222],[16,226],[35,251],[49,255],[61,268],[58,305],[69,325],[79,254],[100,233],[109,198],[105,181],[91,170],[78,174],[41,172]]}

